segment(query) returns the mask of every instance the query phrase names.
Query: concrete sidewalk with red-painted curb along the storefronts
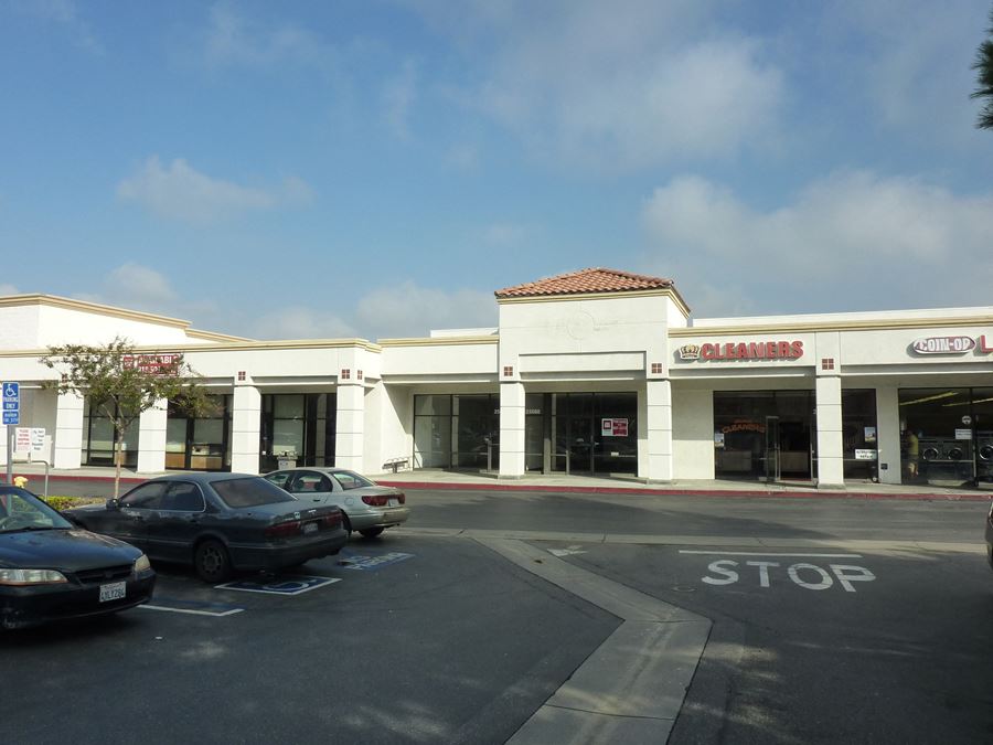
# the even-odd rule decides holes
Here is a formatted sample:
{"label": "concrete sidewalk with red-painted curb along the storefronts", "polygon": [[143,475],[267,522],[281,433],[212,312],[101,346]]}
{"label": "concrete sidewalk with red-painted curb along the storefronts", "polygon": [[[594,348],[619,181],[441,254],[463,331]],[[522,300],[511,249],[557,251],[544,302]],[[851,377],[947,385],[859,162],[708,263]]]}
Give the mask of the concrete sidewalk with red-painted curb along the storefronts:
{"label": "concrete sidewalk with red-painted curb along the storefronts", "polygon": [[[0,481],[6,477],[6,465],[0,466]],[[168,471],[177,473],[181,471]],[[40,488],[44,478],[42,464],[14,462],[13,475],[28,477],[29,488]],[[137,473],[122,468],[121,485],[140,483],[161,473]],[[760,481],[737,480],[677,480],[671,483],[645,483],[630,476],[565,476],[558,473],[525,475],[520,479],[498,479],[495,473],[416,470],[398,473],[369,473],[378,483],[404,489],[426,489],[446,491],[531,491],[531,492],[578,492],[617,494],[688,494],[695,497],[789,497],[794,499],[932,499],[932,500],[989,500],[993,498],[993,483],[972,486],[936,485],[890,485],[872,481],[852,481],[843,488],[818,488],[811,481]],[[114,480],[114,468],[84,467],[77,469],[49,469],[49,479],[107,481]],[[49,490],[52,492],[51,488]]]}

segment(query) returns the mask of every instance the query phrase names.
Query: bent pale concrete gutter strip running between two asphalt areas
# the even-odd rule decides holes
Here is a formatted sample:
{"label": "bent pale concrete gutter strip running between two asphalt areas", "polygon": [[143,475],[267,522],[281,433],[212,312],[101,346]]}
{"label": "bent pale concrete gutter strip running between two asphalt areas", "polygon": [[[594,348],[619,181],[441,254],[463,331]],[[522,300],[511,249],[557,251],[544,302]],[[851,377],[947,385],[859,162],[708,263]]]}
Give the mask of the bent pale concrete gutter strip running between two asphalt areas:
{"label": "bent pale concrete gutter strip running between two asphalt areas", "polygon": [[711,621],[522,541],[477,541],[623,621],[508,743],[665,743]]}

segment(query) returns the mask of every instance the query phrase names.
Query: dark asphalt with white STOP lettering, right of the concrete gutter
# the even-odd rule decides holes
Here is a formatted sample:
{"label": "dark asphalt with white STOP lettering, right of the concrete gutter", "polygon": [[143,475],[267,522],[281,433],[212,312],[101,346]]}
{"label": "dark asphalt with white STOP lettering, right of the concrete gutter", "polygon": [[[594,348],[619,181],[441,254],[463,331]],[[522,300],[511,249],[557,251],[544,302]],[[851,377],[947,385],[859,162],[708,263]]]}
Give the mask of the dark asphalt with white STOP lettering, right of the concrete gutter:
{"label": "dark asphalt with white STOP lettering, right of the concrete gutter", "polygon": [[713,621],[671,744],[993,742],[979,547],[532,543]]}

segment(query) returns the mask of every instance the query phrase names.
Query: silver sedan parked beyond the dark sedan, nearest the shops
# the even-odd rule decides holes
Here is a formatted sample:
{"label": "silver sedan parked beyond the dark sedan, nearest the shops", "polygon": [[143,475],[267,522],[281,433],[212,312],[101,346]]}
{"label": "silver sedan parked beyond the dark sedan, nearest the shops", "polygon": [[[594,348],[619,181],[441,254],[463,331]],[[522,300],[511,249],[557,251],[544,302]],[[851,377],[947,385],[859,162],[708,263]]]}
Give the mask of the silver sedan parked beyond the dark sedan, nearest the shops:
{"label": "silver sedan parked beyond the dark sedan, nearest the shops", "polygon": [[403,491],[381,487],[343,468],[303,466],[267,473],[265,478],[297,499],[333,504],[341,509],[346,532],[375,538],[410,517]]}

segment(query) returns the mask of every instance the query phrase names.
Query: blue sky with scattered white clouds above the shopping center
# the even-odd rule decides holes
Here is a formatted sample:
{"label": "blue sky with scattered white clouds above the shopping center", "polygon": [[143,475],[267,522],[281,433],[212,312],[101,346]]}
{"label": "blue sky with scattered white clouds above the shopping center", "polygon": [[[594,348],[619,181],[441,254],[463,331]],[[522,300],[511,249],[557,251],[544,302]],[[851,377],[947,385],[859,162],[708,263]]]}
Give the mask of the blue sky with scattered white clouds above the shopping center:
{"label": "blue sky with scattered white clouds above the shopping center", "polygon": [[254,338],[993,306],[990,0],[0,0],[0,295]]}

